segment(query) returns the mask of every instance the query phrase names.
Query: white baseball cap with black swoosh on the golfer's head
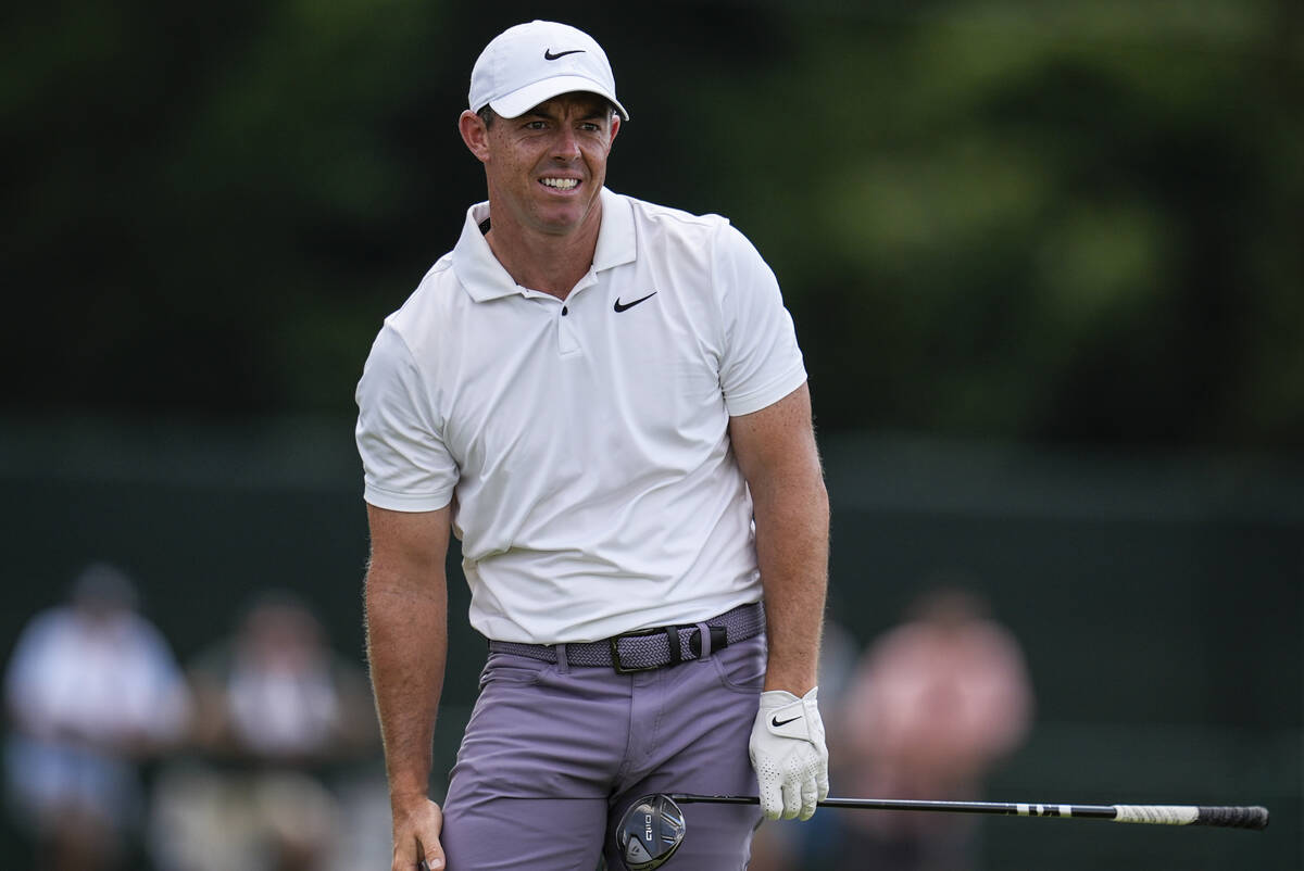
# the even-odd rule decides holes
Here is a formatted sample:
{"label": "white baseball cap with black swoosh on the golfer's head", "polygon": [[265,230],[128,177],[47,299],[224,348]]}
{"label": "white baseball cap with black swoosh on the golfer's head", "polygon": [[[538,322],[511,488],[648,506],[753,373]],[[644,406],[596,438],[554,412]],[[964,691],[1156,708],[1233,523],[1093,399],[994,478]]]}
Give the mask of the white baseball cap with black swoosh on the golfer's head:
{"label": "white baseball cap with black swoosh on the golfer's head", "polygon": [[615,77],[602,47],[570,25],[531,21],[509,27],[485,46],[471,70],[472,112],[489,106],[502,117],[516,117],[570,91],[605,96],[630,120],[615,99]]}

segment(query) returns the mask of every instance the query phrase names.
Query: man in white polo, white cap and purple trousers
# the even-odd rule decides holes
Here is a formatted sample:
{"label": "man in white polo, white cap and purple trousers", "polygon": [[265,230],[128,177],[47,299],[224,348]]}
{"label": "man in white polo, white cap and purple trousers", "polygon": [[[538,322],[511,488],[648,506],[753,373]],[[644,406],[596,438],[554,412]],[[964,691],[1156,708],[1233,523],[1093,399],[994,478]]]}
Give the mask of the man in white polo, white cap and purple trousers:
{"label": "man in white polo, white cap and purple trousers", "polygon": [[[642,794],[759,780],[777,819],[828,791],[828,499],[792,319],[726,220],[604,188],[627,120],[587,34],[493,39],[459,119],[489,199],[359,383],[394,871],[617,868]],[[490,655],[441,808],[450,529]],[[675,867],[743,867],[760,812],[694,806]]]}

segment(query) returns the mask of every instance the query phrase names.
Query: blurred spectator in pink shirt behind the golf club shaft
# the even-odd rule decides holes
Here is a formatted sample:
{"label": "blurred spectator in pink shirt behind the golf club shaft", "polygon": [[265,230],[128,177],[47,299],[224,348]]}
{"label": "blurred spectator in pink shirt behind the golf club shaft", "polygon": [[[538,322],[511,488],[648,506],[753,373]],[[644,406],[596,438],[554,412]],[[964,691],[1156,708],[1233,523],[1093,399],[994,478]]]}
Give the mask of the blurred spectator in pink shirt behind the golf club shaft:
{"label": "blurred spectator in pink shirt behind the golf club shaft", "polygon": [[[1015,638],[960,587],[917,600],[866,652],[844,705],[841,794],[975,799],[1026,735],[1031,688]],[[842,791],[845,789],[845,791]],[[964,871],[977,820],[958,814],[841,815],[837,868]]]}

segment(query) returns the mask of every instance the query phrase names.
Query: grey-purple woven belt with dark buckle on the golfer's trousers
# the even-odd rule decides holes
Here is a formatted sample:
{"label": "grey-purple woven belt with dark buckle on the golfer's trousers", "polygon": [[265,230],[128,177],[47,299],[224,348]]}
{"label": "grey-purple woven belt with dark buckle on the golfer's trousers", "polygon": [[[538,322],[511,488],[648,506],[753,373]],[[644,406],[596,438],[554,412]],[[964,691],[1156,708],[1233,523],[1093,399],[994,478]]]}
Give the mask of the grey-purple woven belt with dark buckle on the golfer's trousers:
{"label": "grey-purple woven belt with dark buckle on the golfer's trousers", "polygon": [[702,658],[702,627],[709,634],[708,651],[737,644],[755,638],[765,628],[765,610],[760,602],[739,605],[720,617],[702,623],[661,626],[636,632],[614,635],[601,642],[578,644],[523,644],[519,642],[489,642],[494,653],[515,653],[544,662],[557,661],[557,648],[566,648],[570,665],[605,665],[619,674],[651,672],[666,665]]}

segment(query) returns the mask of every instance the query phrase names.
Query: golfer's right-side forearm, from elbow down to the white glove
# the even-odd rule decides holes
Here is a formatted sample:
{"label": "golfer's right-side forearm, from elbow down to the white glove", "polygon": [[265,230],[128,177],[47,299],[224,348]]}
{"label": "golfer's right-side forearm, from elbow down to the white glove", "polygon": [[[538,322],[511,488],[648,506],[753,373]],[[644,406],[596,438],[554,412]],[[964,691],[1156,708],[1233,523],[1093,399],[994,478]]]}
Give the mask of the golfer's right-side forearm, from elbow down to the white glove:
{"label": "golfer's right-side forearm, from elbow down to the white glove", "polygon": [[828,493],[818,460],[754,488],[756,557],[765,597],[765,690],[805,695],[816,681],[828,588]]}

